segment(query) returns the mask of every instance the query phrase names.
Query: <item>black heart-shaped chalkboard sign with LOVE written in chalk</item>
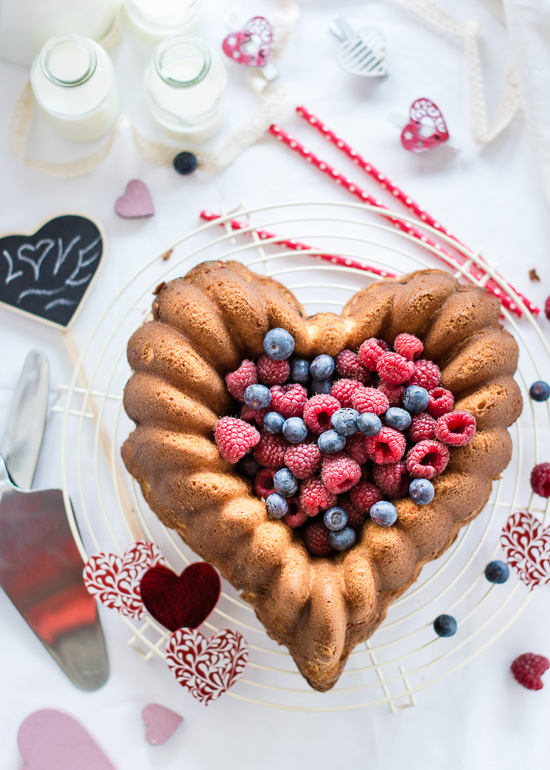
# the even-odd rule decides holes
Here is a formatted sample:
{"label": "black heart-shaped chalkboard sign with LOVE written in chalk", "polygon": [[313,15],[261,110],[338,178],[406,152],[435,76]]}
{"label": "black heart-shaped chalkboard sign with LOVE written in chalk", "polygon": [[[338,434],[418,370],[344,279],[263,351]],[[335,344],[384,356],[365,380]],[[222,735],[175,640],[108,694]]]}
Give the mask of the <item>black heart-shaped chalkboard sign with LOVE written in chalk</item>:
{"label": "black heart-shaped chalkboard sign with LOVE written in chalk", "polygon": [[0,302],[67,327],[101,264],[104,239],[87,217],[50,219],[34,235],[0,238]]}

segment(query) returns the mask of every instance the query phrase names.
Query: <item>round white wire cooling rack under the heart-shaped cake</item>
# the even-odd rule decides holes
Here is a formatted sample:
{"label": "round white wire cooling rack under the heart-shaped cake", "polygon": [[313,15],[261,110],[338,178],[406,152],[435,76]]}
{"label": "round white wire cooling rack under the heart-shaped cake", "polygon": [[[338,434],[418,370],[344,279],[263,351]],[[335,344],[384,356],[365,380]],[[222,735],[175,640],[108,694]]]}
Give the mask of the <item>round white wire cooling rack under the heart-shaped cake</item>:
{"label": "round white wire cooling rack under the heart-shaped cake", "polygon": [[[62,389],[65,403],[58,407],[64,414],[65,503],[83,558],[98,550],[122,553],[134,540],[147,539],[159,545],[167,564],[178,573],[197,560],[152,514],[119,460],[120,446],[133,427],[122,407],[122,391],[130,376],[126,343],[147,318],[155,287],[204,260],[238,259],[283,282],[313,314],[337,312],[352,294],[381,280],[386,271],[402,274],[438,266],[436,249],[381,223],[375,215],[373,207],[360,203],[320,201],[243,208],[239,218],[245,219],[246,227],[240,232],[230,229],[229,216],[209,222],[164,248],[131,276],[97,321],[70,385]],[[457,278],[483,285],[486,278],[467,276],[468,267],[477,265],[510,293],[495,266],[479,254],[458,247],[423,223],[393,212],[392,216],[414,222],[459,248],[467,262],[457,263]],[[265,233],[258,236],[259,230],[267,229],[277,233],[277,238],[264,238]],[[291,239],[311,242],[314,247],[298,252],[282,248],[276,241],[283,238],[287,243]],[[319,254],[338,254],[372,269],[311,259]],[[498,555],[500,531],[510,513],[521,509],[543,520],[548,516],[548,505],[541,507],[541,499],[533,496],[527,480],[532,466],[542,459],[541,449],[550,435],[550,410],[548,404],[534,404],[527,390],[531,382],[543,379],[550,349],[521,298],[513,298],[523,318],[516,319],[506,309],[503,314],[520,347],[517,380],[525,407],[511,429],[511,463],[493,484],[483,513],[390,606],[385,622],[354,650],[338,684],[328,693],[309,688],[286,649],[267,636],[252,608],[224,581],[220,602],[204,624],[205,632],[234,628],[245,636],[250,651],[248,666],[227,697],[290,710],[338,711],[386,703],[396,711],[415,705],[417,692],[486,650],[525,608],[532,592],[515,575],[498,586],[483,576],[487,562]],[[433,632],[433,619],[444,612],[458,620],[458,633],[450,639],[438,638]],[[146,660],[164,657],[169,634],[163,627],[149,616],[141,621],[122,619],[129,628],[129,644]]]}

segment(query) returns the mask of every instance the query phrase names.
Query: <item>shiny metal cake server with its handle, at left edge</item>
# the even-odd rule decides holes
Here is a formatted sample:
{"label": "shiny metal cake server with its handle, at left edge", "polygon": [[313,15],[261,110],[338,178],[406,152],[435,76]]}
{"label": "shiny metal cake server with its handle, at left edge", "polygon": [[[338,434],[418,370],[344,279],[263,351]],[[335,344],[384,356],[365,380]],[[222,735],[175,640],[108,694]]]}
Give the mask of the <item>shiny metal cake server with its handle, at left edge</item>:
{"label": "shiny metal cake server with its handle, at left edge", "polygon": [[[45,426],[48,365],[29,354],[0,455],[0,585],[65,674],[95,690],[109,676],[97,604],[84,586],[82,558],[59,489],[32,484]],[[9,465],[8,465],[9,460]]]}

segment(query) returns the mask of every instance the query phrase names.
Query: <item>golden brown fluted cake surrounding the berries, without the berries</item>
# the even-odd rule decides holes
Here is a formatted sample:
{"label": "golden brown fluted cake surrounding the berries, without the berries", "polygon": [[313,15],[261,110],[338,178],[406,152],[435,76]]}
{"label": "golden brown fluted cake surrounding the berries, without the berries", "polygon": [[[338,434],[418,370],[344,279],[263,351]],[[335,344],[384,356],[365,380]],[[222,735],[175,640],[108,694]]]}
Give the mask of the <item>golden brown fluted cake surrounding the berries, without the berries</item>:
{"label": "golden brown fluted cake surrounding the berries, without the berries", "polygon": [[[160,288],[154,320],[130,339],[134,374],[124,406],[136,429],[122,447],[127,469],[160,520],[242,591],[318,690],[336,683],[389,604],[482,510],[491,480],[510,461],[507,428],[522,402],[513,379],[517,345],[499,312],[486,291],[425,270],[371,284],[341,316],[307,318],[277,281],[238,262],[205,262]],[[392,343],[401,332],[415,334],[456,407],[477,420],[473,441],[453,449],[434,480],[431,504],[397,501],[394,526],[368,522],[357,544],[336,556],[312,556],[289,527],[268,519],[213,441],[216,419],[234,408],[224,375],[260,356],[266,332],[278,326],[309,358],[356,349],[368,337]]]}

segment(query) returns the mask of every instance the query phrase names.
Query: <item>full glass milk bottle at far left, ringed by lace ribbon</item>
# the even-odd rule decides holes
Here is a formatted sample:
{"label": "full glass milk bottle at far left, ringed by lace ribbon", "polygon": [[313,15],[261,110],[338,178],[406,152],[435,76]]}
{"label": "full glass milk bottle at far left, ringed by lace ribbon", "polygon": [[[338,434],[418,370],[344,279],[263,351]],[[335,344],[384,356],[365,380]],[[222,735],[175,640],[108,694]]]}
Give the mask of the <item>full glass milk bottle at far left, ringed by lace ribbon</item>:
{"label": "full glass milk bottle at far left, ringed by lace ribbon", "polygon": [[99,139],[115,123],[113,64],[89,38],[61,35],[49,40],[33,62],[31,86],[48,123],[63,139]]}

